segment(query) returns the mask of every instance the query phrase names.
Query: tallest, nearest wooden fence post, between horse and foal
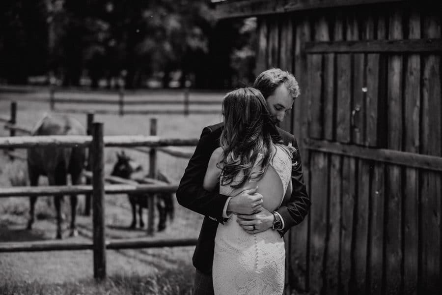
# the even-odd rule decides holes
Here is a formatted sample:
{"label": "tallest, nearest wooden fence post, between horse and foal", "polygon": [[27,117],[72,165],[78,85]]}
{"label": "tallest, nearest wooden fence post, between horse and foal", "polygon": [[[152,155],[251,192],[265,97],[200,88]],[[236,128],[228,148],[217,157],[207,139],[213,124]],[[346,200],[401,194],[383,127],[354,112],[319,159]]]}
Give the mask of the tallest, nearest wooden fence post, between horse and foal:
{"label": "tallest, nearest wooden fence post, between horse and foal", "polygon": [[102,280],[106,277],[103,123],[93,123],[90,148],[92,150],[94,278]]}

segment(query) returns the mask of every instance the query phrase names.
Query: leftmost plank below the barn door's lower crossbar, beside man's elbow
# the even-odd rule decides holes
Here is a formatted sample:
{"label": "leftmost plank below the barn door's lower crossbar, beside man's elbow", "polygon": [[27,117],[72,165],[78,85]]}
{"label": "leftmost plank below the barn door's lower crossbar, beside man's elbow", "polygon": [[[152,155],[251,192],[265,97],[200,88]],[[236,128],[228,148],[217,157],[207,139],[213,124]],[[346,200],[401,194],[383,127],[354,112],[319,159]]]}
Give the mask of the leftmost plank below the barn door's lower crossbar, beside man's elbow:
{"label": "leftmost plank below the barn door's lower crossbar, beside man's elbow", "polygon": [[328,186],[329,179],[327,155],[322,152],[311,152],[311,232],[310,232],[310,293],[324,293],[325,245],[327,236]]}

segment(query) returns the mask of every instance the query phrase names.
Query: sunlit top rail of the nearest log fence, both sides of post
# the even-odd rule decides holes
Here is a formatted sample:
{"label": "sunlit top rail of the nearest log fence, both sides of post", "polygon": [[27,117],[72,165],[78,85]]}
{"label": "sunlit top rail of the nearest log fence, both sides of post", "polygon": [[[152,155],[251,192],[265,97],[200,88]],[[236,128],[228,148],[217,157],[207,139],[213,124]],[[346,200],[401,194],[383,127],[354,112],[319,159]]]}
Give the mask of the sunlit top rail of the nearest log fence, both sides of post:
{"label": "sunlit top rail of the nearest log fence, both sides of post", "polygon": [[[92,136],[21,136],[0,138],[0,148],[36,148],[56,145],[58,147],[89,146]],[[104,137],[106,147],[165,147],[165,146],[196,146],[198,139],[161,138],[159,136],[118,136]]]}

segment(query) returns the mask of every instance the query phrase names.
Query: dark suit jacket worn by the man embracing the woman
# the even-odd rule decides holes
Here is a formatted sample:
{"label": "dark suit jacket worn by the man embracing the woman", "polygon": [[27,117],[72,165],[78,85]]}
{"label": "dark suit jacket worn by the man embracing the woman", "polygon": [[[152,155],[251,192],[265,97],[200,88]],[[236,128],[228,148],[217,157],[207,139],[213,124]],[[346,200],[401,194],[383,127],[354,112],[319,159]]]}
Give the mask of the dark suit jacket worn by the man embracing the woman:
{"label": "dark suit jacket worn by the man embracing the woman", "polygon": [[[218,223],[225,221],[222,217],[222,211],[228,198],[221,195],[218,188],[213,192],[206,191],[203,188],[204,175],[210,156],[216,148],[220,147],[223,126],[223,123],[218,123],[203,129],[199,143],[176,191],[176,197],[180,205],[205,216],[192,259],[193,266],[204,273],[212,271],[215,235]],[[292,143],[298,150],[298,156],[293,159],[295,165],[292,168],[292,195],[290,198],[285,198],[281,207],[277,209],[284,220],[284,229],[280,232],[282,236],[292,226],[303,221],[311,203],[305,189],[301,157],[299,156],[296,139],[292,134],[278,127],[275,128],[274,132],[278,134],[279,139],[285,145]]]}

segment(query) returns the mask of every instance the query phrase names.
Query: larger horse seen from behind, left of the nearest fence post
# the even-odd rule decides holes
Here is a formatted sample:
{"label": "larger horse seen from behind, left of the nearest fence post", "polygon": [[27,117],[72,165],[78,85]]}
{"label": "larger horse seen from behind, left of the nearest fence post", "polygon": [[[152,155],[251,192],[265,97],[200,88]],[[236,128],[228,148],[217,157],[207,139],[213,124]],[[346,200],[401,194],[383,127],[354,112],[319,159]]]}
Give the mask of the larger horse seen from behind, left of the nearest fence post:
{"label": "larger horse seen from behind, left of the nearest fence post", "polygon": [[[46,114],[33,128],[31,135],[86,135],[83,125],[76,119],[66,115]],[[58,148],[55,146],[44,148],[28,148],[28,175],[31,186],[38,185],[40,176],[47,176],[49,185],[66,185],[67,175],[71,175],[72,184],[80,184],[86,159],[86,149],[83,147]],[[61,202],[63,195],[54,196],[56,209],[57,232],[56,238],[62,238],[61,230]],[[30,212],[28,229],[34,223],[34,207],[36,196],[30,197]],[[71,195],[71,224],[70,236],[77,236],[75,217],[77,210],[77,195]]]}

